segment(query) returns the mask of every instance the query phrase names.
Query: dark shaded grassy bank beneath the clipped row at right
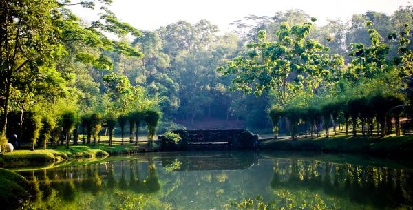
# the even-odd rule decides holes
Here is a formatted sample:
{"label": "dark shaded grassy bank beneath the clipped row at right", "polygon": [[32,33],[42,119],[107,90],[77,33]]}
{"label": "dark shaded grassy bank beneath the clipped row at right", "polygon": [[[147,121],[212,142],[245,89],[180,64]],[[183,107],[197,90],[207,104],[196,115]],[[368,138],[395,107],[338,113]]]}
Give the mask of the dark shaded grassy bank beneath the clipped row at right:
{"label": "dark shaded grassy bank beneath the clipped row at right", "polygon": [[413,152],[413,136],[346,136],[328,138],[299,138],[298,140],[265,140],[260,149],[289,151],[320,151],[328,153],[369,154],[382,157],[410,158]]}

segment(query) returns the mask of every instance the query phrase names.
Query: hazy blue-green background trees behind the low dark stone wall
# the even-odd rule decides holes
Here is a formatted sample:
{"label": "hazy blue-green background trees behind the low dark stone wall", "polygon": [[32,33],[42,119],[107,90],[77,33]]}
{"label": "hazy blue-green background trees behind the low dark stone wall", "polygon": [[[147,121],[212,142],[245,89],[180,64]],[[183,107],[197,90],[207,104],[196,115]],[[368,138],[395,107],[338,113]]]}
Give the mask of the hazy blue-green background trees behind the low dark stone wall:
{"label": "hazy blue-green background trees behind the low dark stone wall", "polygon": [[[320,74],[324,78],[332,74],[330,83],[336,83],[337,78],[342,76],[342,69],[352,63],[352,56],[349,55],[353,50],[351,43],[371,45],[368,33],[370,28],[375,28],[381,37],[387,37],[392,31],[403,30],[404,23],[408,24],[407,29],[410,30],[413,21],[408,14],[411,13],[412,7],[407,6],[399,8],[392,15],[369,11],[354,14],[347,23],[337,19],[329,20],[325,26],[307,25],[310,29],[306,32],[308,34],[305,34],[305,39],[313,39],[323,45],[324,50],[329,49],[326,52],[330,56],[328,65],[336,65],[332,67],[337,70],[328,73],[326,65],[323,71],[314,74]],[[233,76],[224,77],[222,72],[215,71],[215,67],[224,65],[236,56],[246,56],[253,48],[245,48],[245,45],[260,42],[260,30],[266,31],[266,42],[278,41],[279,36],[276,34],[280,25],[288,23],[291,28],[293,25],[302,25],[309,19],[309,15],[301,10],[277,12],[273,17],[251,16],[234,22],[233,25],[237,27],[235,34],[223,35],[206,20],[195,24],[178,21],[158,30],[142,32],[143,35],[132,45],[145,54],[144,58],[135,61],[119,57],[114,70],[127,76],[131,83],[148,87],[151,94],[158,94],[165,121],[193,127],[207,120],[238,119],[246,121],[246,126],[250,129],[271,127],[269,120],[262,120],[266,119],[265,109],[277,103],[277,94],[282,92],[264,91],[258,97],[231,92],[229,88]],[[367,21],[372,22],[372,25],[366,26]],[[399,44],[395,39],[380,38],[380,41],[389,46],[390,57],[397,55]],[[408,48],[411,48],[410,44]],[[295,59],[297,56],[291,55]],[[326,61],[323,56],[319,59]],[[310,66],[310,63],[307,64]],[[290,74],[290,77],[295,76],[294,70]],[[321,76],[314,81],[318,90],[321,85],[317,86],[317,80]],[[295,87],[286,89],[289,88]]]}

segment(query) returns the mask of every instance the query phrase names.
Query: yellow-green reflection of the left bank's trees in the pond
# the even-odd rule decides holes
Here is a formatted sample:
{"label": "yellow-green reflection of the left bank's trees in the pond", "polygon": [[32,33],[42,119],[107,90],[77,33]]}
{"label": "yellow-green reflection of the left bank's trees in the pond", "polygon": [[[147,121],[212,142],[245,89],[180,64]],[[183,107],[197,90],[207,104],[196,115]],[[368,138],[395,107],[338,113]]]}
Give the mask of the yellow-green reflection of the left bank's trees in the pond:
{"label": "yellow-green reflection of the left bank's trees in the pond", "polygon": [[[33,199],[22,209],[95,209],[97,206],[100,209],[136,209],[154,203],[162,206],[162,202],[145,199],[148,193],[160,190],[153,159],[148,163],[131,160],[129,173],[125,165],[122,161],[119,169],[119,165],[107,162],[22,172],[32,182],[34,191]],[[140,170],[144,171],[142,175],[146,174],[144,178],[140,178]],[[89,202],[81,206],[79,200]]]}

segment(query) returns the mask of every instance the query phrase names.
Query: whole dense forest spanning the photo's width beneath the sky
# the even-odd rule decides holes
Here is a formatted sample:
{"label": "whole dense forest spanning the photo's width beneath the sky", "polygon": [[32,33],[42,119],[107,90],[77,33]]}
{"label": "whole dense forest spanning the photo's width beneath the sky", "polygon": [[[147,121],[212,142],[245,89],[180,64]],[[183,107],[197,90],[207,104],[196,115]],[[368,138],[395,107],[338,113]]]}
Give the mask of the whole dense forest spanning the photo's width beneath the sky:
{"label": "whole dense forest spanning the photo's width beneath the sky", "polygon": [[[271,110],[318,107],[322,116],[321,107],[341,110],[328,105],[342,101],[391,96],[402,105],[413,96],[411,5],[321,26],[302,10],[250,15],[222,33],[208,20],[138,30],[116,18],[110,1],[99,2],[98,19],[85,21],[71,7],[92,10],[91,1],[1,1],[3,140],[23,129],[35,130],[25,136],[32,142],[79,130],[90,142],[102,127],[124,136],[134,123],[147,126],[149,138],[156,126],[264,131],[273,127]],[[324,121],[332,114],[349,122],[351,113],[335,113]]]}

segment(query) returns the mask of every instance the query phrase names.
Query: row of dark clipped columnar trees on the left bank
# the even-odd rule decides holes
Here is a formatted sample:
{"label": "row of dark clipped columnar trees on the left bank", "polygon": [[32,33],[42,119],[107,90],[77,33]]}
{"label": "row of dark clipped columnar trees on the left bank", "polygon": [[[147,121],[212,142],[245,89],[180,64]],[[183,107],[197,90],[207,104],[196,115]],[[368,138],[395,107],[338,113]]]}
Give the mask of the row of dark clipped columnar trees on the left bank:
{"label": "row of dark clipped columnar trees on the left bank", "polygon": [[[9,118],[15,120],[19,114],[10,113]],[[138,132],[142,123],[147,127],[148,143],[151,145],[156,135],[156,127],[161,118],[161,114],[157,110],[134,111],[127,114],[107,114],[105,116],[100,113],[85,114],[79,116],[76,112],[66,111],[59,116],[51,118],[49,116],[39,116],[34,112],[25,113],[25,121],[21,127],[12,125],[13,128],[19,127],[17,130],[10,129],[8,133],[19,134],[24,139],[27,139],[32,144],[32,150],[36,145],[47,148],[47,143],[52,147],[56,147],[59,142],[61,145],[66,144],[69,148],[70,140],[74,145],[78,145],[78,136],[83,134],[83,144],[96,145],[96,140],[100,143],[100,132],[103,127],[107,129],[109,134],[109,145],[112,145],[112,137],[116,125],[120,127],[122,134],[122,145],[124,144],[125,126],[129,123],[130,143],[138,144]],[[136,132],[134,127],[136,126]],[[136,137],[134,137],[136,134]],[[93,137],[93,142],[92,142]],[[13,142],[14,143],[14,142]],[[21,144],[21,138],[17,145]]]}

